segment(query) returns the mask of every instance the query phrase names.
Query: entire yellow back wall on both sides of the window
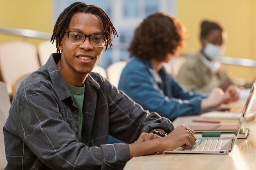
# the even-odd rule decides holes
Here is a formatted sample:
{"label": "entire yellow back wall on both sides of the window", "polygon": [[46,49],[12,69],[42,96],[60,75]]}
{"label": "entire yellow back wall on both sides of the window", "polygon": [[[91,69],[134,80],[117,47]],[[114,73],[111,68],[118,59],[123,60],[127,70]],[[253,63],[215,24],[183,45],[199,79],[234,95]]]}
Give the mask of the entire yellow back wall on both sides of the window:
{"label": "entire yellow back wall on both sides of the window", "polygon": [[[52,0],[0,0],[0,26],[32,29],[52,33]],[[228,33],[224,55],[256,60],[255,0],[177,0],[177,17],[189,33],[184,52],[194,53],[200,47],[198,30],[203,19],[218,20]],[[36,46],[42,39],[24,38],[0,33],[0,43],[25,40]],[[234,77],[252,79],[256,68],[223,65]]]}

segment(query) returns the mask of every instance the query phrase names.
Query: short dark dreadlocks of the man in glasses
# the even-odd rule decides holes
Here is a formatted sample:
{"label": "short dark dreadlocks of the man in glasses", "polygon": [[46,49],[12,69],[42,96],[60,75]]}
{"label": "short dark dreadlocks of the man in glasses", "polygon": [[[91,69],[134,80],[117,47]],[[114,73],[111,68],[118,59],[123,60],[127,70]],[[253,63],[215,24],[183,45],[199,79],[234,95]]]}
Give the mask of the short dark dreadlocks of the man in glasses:
{"label": "short dark dreadlocks of the man in glasses", "polygon": [[115,35],[117,35],[117,31],[113,26],[112,22],[110,21],[108,14],[105,11],[103,11],[103,9],[95,5],[87,5],[82,2],[74,2],[69,7],[65,8],[64,11],[59,15],[56,21],[56,24],[54,26],[51,41],[52,43],[54,43],[54,40],[56,40],[57,52],[60,52],[60,49],[58,48],[58,44],[61,44],[61,40],[65,34],[65,31],[70,23],[72,16],[75,13],[79,13],[79,12],[91,13],[94,15],[98,15],[101,18],[101,21],[103,23],[103,34],[107,37],[107,44],[106,44],[105,51],[107,51],[108,45],[110,46],[110,49],[112,49],[112,33],[115,37]]}

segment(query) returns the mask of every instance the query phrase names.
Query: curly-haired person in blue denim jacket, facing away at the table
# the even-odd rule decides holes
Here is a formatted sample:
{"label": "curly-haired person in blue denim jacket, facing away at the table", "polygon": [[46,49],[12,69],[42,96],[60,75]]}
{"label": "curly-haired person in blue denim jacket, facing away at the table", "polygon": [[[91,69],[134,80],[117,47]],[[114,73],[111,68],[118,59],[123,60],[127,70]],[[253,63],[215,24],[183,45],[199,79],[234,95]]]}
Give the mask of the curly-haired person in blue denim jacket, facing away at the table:
{"label": "curly-haired person in blue denim jacket, facing away at the table", "polygon": [[135,30],[128,49],[132,58],[124,67],[118,86],[144,109],[156,111],[170,120],[197,115],[240,97],[236,86],[229,86],[225,93],[214,88],[209,95],[185,91],[166,72],[163,64],[182,49],[183,30],[176,18],[165,13],[154,13],[144,19]]}

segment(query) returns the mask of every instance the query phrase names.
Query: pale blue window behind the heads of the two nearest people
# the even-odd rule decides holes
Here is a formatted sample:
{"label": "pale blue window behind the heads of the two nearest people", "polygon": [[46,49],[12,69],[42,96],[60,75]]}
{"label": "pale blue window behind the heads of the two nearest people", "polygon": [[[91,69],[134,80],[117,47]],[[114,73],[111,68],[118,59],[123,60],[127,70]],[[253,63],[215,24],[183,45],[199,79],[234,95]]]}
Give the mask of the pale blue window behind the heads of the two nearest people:
{"label": "pale blue window behind the heads of the two nearest people", "polygon": [[[76,1],[53,0],[54,24],[63,9]],[[99,60],[98,65],[103,68],[117,61],[128,60],[130,53],[127,48],[133,38],[134,29],[146,16],[157,11],[172,13],[176,9],[176,0],[83,0],[81,2],[101,7],[108,13],[117,30],[118,38],[112,38],[112,50],[110,48],[104,50]]]}

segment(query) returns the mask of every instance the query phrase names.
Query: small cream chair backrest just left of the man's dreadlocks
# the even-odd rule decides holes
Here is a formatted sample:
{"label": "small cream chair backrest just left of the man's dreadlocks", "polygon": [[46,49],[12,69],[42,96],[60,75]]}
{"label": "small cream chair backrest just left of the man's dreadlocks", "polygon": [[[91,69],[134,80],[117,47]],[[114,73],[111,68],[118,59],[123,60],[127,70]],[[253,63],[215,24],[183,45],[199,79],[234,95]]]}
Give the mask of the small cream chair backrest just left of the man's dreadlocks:
{"label": "small cream chair backrest just left of the man's dreadlocks", "polygon": [[57,52],[57,48],[55,43],[52,44],[52,42],[48,40],[41,42],[38,45],[38,57],[39,57],[40,65],[43,66],[47,62],[50,55],[56,52]]}

